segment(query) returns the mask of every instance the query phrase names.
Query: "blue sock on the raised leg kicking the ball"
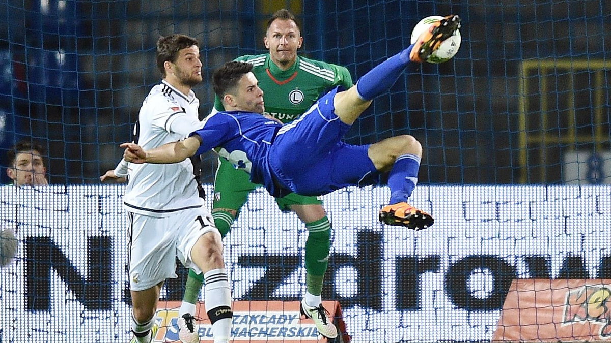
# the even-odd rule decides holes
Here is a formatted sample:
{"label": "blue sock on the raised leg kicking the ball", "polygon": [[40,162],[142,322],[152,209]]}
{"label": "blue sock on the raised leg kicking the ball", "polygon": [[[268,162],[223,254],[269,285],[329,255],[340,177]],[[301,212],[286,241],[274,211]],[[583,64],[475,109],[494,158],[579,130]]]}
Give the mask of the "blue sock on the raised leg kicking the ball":
{"label": "blue sock on the raised leg kicking the ball", "polygon": [[411,62],[409,60],[409,53],[413,47],[413,44],[410,45],[407,49],[379,63],[363,75],[356,83],[356,90],[360,98],[371,100],[389,90]]}

